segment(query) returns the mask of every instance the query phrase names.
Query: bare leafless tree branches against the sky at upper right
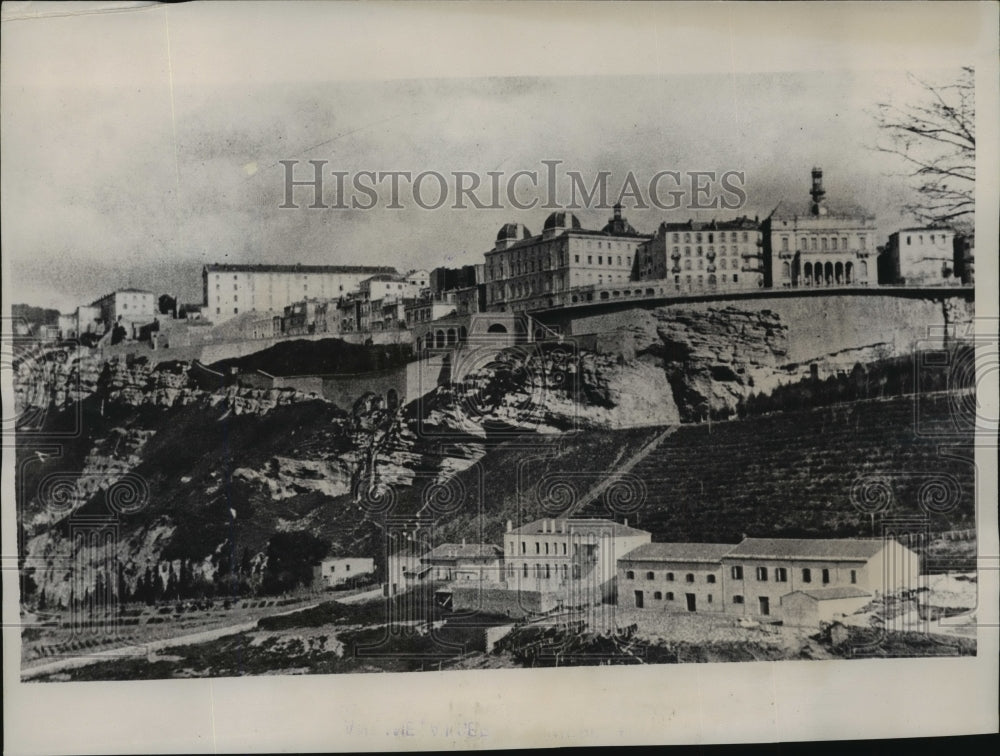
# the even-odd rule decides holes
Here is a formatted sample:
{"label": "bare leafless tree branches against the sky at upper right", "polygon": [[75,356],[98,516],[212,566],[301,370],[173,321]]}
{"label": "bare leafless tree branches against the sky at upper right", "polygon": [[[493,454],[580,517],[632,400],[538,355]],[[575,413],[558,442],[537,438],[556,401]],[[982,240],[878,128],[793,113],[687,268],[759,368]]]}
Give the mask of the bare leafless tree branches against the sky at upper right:
{"label": "bare leafless tree branches against the sky at upper right", "polygon": [[964,67],[948,84],[920,86],[917,102],[878,103],[875,119],[886,135],[880,152],[906,161],[916,180],[917,199],[904,209],[924,223],[945,223],[971,232],[975,221],[975,71]]}

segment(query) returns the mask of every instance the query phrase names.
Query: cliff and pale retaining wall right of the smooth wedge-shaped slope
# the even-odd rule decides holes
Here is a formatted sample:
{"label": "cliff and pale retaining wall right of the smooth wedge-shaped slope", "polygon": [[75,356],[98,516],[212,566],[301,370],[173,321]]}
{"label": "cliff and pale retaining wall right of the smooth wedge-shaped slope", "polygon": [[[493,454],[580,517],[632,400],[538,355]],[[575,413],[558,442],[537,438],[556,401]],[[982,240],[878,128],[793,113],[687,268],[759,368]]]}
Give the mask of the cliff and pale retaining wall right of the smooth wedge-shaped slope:
{"label": "cliff and pale retaining wall right of the smooth wedge-shaped slope", "polygon": [[599,334],[605,356],[662,370],[669,396],[650,383],[645,402],[699,421],[813,370],[820,377],[849,372],[856,363],[926,348],[945,332],[968,338],[974,310],[960,297],[773,298],[626,310],[574,328]]}

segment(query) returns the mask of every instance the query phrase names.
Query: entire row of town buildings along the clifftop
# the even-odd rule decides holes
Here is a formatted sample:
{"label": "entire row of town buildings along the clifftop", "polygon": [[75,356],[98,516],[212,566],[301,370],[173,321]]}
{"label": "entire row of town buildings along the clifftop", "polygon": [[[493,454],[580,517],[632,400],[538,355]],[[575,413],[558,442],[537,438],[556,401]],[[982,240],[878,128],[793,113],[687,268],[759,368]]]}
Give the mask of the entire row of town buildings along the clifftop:
{"label": "entire row of town buildings along the clifftop", "polygon": [[601,229],[584,228],[567,211],[551,213],[537,235],[505,223],[484,262],[460,268],[206,265],[199,304],[175,302],[164,315],[152,292],[123,289],[64,315],[59,331],[68,338],[120,328],[120,338],[149,338],[159,327],[153,321],[170,317],[225,325],[219,337],[234,341],[393,332],[417,344],[443,319],[620,297],[974,282],[973,237],[943,225],[914,227],[877,245],[874,216],[828,203],[822,170],[811,177],[808,201],[782,201],[763,220],[661,223],[649,234],[617,204]]}

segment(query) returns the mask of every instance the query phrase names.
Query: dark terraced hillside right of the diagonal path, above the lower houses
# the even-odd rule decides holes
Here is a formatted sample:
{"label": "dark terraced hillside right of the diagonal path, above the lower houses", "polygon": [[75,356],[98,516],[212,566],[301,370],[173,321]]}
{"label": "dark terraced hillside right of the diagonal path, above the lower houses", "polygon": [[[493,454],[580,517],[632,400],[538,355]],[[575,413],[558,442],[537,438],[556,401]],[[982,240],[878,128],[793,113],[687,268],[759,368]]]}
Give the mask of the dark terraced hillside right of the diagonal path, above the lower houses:
{"label": "dark terraced hillside right of the diagonal path, above the lower houses", "polygon": [[[961,398],[919,397],[919,435],[913,396],[682,426],[633,469],[646,496],[631,522],[654,541],[733,543],[868,536],[883,514],[972,528],[972,438],[952,419]],[[607,516],[600,502],[587,513]]]}

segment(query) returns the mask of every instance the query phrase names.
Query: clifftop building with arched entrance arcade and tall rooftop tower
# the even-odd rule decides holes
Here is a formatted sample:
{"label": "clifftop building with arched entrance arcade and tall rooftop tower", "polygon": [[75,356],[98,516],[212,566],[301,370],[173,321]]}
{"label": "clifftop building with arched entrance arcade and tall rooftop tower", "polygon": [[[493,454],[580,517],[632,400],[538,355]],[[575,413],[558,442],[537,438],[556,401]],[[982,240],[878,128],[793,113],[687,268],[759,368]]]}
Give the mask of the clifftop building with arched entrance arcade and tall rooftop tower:
{"label": "clifftop building with arched entrance arcade and tall rooftop tower", "polygon": [[764,220],[764,286],[867,285],[876,281],[875,217],[826,204],[823,171],[812,170],[811,202],[783,201]]}

